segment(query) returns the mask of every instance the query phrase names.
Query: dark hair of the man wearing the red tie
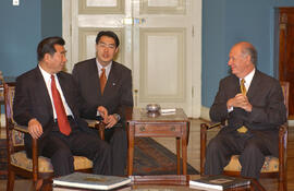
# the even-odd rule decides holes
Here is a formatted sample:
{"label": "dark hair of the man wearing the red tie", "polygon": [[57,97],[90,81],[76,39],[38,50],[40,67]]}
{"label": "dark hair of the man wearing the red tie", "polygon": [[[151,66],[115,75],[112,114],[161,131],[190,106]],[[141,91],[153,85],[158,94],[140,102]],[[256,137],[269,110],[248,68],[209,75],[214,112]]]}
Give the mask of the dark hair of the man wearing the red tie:
{"label": "dark hair of the man wearing the red tie", "polygon": [[52,37],[42,39],[39,43],[38,48],[37,48],[38,61],[41,61],[44,59],[45,53],[49,53],[53,56],[54,52],[57,52],[54,45],[64,46],[65,41],[63,38],[59,36],[52,36]]}

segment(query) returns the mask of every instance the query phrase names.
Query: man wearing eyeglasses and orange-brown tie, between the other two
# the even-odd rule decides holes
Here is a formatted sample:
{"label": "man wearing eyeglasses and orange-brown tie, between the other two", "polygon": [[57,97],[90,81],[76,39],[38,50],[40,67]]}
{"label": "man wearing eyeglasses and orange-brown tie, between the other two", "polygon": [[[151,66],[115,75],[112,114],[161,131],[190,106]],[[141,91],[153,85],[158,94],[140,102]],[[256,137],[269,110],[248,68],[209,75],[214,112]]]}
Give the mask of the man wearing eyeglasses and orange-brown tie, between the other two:
{"label": "man wearing eyeglasses and orange-brown tie, between the other two", "polygon": [[[73,76],[79,92],[90,105],[105,106],[109,116],[105,139],[112,147],[112,174],[124,175],[127,140],[124,127],[124,107],[133,107],[132,72],[113,61],[120,40],[111,31],[99,32],[96,37],[96,58],[74,65]],[[99,118],[99,114],[97,114]],[[95,118],[95,116],[83,116]]]}

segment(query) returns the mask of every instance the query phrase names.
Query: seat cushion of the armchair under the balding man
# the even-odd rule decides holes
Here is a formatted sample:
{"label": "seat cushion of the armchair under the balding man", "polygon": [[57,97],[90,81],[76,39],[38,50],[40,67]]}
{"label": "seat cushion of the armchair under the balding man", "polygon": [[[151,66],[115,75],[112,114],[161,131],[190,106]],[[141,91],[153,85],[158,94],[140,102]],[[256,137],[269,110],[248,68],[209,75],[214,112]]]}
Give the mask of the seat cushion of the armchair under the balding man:
{"label": "seat cushion of the armchair under the balding man", "polygon": [[[226,171],[241,171],[241,164],[238,162],[240,155],[233,155],[229,165],[224,167]],[[279,171],[279,158],[273,156],[266,156],[265,164],[261,168],[261,172],[274,172]]]}

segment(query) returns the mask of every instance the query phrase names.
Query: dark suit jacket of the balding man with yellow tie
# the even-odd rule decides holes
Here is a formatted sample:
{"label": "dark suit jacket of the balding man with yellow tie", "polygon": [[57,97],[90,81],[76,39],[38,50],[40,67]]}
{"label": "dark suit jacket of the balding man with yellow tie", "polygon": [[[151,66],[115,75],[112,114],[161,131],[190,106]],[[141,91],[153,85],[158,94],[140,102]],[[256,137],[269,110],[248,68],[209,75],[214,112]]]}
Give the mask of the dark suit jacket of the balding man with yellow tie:
{"label": "dark suit jacket of the balding man with yellow tie", "polygon": [[272,152],[278,156],[278,127],[286,121],[286,110],[281,85],[278,80],[256,70],[247,97],[253,106],[252,112],[241,108],[234,108],[228,112],[226,102],[233,98],[240,89],[240,80],[235,75],[230,75],[220,81],[218,94],[210,108],[212,121],[223,121],[228,119],[228,127],[221,133],[235,131],[245,126],[250,133],[262,133],[267,136],[268,144],[272,145]]}

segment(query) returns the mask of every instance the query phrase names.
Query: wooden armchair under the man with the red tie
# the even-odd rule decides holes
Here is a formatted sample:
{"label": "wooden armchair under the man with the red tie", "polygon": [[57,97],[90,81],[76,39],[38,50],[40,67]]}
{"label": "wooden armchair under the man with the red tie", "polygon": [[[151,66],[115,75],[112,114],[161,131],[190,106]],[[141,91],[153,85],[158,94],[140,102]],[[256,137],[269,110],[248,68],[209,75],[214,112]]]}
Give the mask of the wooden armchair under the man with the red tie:
{"label": "wooden armchair under the man with the red tie", "polygon": [[[33,139],[33,158],[27,158],[24,150],[24,133],[28,133],[28,130],[27,127],[19,126],[13,120],[14,86],[3,84],[9,169],[7,190],[13,190],[15,175],[33,179],[35,190],[52,190],[53,168],[50,159],[38,156],[36,139]],[[90,172],[93,163],[86,157],[74,156],[74,168],[77,171]]]}

